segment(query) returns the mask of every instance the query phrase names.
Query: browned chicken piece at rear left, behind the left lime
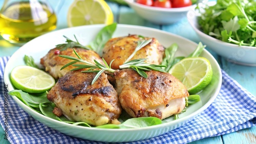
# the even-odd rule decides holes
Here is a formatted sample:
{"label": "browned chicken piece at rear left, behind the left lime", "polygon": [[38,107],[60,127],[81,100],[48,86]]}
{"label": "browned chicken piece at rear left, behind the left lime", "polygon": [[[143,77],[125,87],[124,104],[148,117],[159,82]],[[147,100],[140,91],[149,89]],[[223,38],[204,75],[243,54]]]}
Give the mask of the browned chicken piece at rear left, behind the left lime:
{"label": "browned chicken piece at rear left, behind the left lime", "polygon": [[[97,60],[98,62],[103,63],[100,56],[94,51],[81,48],[75,48],[75,51],[83,60],[91,63],[94,63],[94,60]],[[61,58],[58,55],[68,55],[77,58],[73,52],[73,48],[69,48],[64,51],[60,51],[57,48],[54,48],[50,50],[46,56],[42,57],[40,63],[45,66],[45,70],[55,79],[64,76],[68,71],[75,68],[74,66],[70,65],[65,69],[60,70],[62,66],[68,64],[72,60]]]}

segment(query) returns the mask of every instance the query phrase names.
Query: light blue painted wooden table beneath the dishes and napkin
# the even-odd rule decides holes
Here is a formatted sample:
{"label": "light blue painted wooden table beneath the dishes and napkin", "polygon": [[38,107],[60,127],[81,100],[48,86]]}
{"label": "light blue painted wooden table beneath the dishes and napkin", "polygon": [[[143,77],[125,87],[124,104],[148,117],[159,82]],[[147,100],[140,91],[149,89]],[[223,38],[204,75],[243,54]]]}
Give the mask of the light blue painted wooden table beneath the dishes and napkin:
{"label": "light blue painted wooden table beneath the dishes and napkin", "polygon": [[[56,30],[68,27],[67,12],[72,2],[73,1],[65,1],[65,3],[63,4],[60,12],[58,13],[58,22]],[[118,23],[156,28],[183,36],[197,43],[200,41],[194,30],[190,27],[186,18],[183,18],[181,21],[179,21],[178,23],[174,23],[173,25],[155,25],[151,22],[142,19],[134,12],[134,10],[132,10],[129,7],[120,6],[112,2],[108,2],[108,4],[114,13],[115,21]],[[0,7],[1,6],[2,1],[0,2]],[[11,56],[17,49],[19,49],[19,46],[14,46],[0,38],[0,57]],[[221,68],[225,70],[230,77],[238,81],[238,83],[240,83],[254,96],[256,95],[256,67],[236,65],[228,62],[225,58],[218,56],[215,52],[212,52],[210,50],[208,51],[217,59]],[[9,143],[8,140],[4,139],[4,130],[2,127],[0,127],[0,143]],[[204,138],[197,141],[193,141],[191,143],[256,143],[256,127],[240,130],[222,136]]]}

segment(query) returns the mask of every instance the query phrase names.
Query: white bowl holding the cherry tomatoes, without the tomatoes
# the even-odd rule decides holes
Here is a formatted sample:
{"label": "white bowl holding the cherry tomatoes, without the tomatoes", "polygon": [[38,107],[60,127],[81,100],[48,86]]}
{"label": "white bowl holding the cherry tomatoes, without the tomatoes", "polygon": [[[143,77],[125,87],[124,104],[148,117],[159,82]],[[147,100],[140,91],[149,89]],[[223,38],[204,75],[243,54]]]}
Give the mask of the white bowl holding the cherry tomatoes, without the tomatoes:
{"label": "white bowl holding the cherry tomatoes, without the tomatoes", "polygon": [[186,17],[186,13],[189,10],[195,8],[195,5],[191,5],[183,8],[158,8],[145,6],[136,3],[136,0],[124,0],[134,11],[142,18],[156,23],[158,25],[168,25],[178,22],[182,18]]}

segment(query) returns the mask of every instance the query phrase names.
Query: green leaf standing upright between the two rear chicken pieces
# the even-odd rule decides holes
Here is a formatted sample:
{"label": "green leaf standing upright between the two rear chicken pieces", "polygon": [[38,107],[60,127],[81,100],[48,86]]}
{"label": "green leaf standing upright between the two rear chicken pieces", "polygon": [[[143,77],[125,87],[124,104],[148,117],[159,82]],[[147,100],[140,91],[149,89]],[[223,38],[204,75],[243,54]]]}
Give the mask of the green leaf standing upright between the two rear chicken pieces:
{"label": "green leaf standing upright between the two rear chicken pieces", "polygon": [[96,53],[100,56],[102,55],[102,49],[105,43],[112,38],[113,33],[115,32],[117,27],[117,23],[113,23],[111,25],[105,26],[103,29],[99,31],[96,35],[95,39],[89,44],[89,47],[92,48]]}

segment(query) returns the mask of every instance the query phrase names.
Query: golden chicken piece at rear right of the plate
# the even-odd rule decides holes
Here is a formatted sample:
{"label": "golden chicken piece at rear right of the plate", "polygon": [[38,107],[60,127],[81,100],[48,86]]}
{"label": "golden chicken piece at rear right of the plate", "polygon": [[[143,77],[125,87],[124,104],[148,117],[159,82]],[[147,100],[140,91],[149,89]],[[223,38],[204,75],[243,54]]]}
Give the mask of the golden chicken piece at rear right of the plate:
{"label": "golden chicken piece at rear right of the plate", "polygon": [[[145,37],[145,39],[150,39]],[[147,59],[146,63],[160,64],[162,62],[164,47],[159,43],[156,38],[139,50],[131,60],[144,58]],[[122,65],[125,60],[134,52],[137,41],[140,38],[137,35],[129,35],[125,37],[116,37],[106,42],[103,48],[102,57],[110,64],[114,59],[111,67],[113,69],[119,69],[119,65]]]}

